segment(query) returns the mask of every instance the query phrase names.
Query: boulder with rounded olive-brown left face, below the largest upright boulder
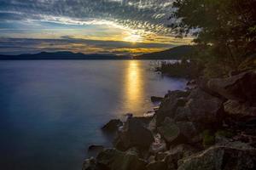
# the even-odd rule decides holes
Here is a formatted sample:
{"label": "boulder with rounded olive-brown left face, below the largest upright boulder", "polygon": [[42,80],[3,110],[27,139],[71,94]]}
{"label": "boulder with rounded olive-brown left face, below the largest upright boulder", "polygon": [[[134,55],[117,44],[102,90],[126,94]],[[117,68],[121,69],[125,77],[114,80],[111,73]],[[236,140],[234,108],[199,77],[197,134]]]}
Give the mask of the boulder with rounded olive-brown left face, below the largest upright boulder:
{"label": "boulder with rounded olive-brown left face, below the largest upright boulder", "polygon": [[169,117],[166,117],[165,122],[157,129],[160,135],[169,144],[187,143],[197,135],[197,131],[192,122],[174,122]]}

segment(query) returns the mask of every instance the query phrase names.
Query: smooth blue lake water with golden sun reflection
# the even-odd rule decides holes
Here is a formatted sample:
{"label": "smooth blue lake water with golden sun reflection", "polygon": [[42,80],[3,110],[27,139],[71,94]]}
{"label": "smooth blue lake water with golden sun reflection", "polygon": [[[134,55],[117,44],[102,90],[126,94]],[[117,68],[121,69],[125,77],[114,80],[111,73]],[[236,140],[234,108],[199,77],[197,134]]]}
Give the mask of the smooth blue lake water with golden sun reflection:
{"label": "smooth blue lake water with golden sun reflection", "polygon": [[4,170],[79,170],[100,127],[142,116],[151,95],[183,89],[142,60],[0,61],[0,165]]}

